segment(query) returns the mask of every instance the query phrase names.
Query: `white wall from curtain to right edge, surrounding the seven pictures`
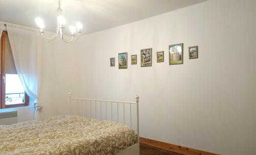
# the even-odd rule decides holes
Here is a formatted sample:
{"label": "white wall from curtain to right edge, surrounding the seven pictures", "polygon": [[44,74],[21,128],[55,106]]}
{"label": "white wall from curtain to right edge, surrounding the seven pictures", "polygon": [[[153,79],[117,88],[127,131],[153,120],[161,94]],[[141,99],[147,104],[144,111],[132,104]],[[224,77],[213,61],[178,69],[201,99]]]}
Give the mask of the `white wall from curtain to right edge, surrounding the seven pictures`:
{"label": "white wall from curtain to right edge, surrounding the seven pictures", "polygon": [[[51,42],[42,54],[42,117],[68,112],[74,97],[134,100],[140,136],[220,154],[256,154],[256,1],[210,0],[120,27]],[[103,24],[103,23],[102,23]],[[168,45],[184,43],[184,64],[168,65]],[[188,46],[199,59],[188,60]],[[140,49],[153,66],[140,67]],[[165,60],[156,63],[156,51]],[[128,69],[110,58],[129,54]],[[131,55],[138,64],[131,65]],[[116,62],[117,63],[117,62]]]}

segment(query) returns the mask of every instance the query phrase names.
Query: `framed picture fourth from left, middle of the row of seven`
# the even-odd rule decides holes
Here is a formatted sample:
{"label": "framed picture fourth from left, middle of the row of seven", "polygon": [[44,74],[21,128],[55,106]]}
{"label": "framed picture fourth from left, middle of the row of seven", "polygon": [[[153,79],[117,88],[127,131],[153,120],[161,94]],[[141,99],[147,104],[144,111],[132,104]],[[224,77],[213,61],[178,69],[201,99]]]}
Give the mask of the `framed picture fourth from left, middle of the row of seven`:
{"label": "framed picture fourth from left, middle of the row of seven", "polygon": [[152,48],[140,50],[140,64],[141,67],[152,66]]}

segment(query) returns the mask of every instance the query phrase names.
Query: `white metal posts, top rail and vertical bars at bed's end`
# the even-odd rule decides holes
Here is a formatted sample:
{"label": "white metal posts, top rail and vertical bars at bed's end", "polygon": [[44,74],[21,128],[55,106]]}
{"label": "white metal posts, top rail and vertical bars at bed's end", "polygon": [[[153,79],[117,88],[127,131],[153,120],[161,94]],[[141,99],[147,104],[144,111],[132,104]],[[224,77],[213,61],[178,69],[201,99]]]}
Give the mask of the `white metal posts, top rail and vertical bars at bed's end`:
{"label": "white metal posts, top rail and vertical bars at bed's end", "polygon": [[[102,120],[103,119],[103,116],[102,116],[102,105],[104,105],[105,107],[105,112],[104,112],[104,114],[105,114],[105,117],[104,117],[104,120],[107,120],[107,115],[108,115],[108,109],[107,109],[107,105],[109,104],[109,105],[111,105],[111,121],[113,121],[113,105],[114,104],[116,104],[116,106],[117,106],[117,122],[118,123],[122,123],[122,124],[125,124],[125,118],[127,118],[127,117],[125,117],[125,105],[129,105],[129,113],[130,113],[130,125],[128,125],[128,126],[130,126],[130,127],[132,127],[132,106],[135,106],[136,107],[136,114],[137,114],[137,116],[136,116],[136,119],[137,119],[137,126],[136,126],[136,128],[137,128],[137,135],[138,135],[138,143],[139,143],[139,96],[138,95],[136,95],[135,96],[135,102],[129,102],[129,101],[116,101],[116,100],[102,100],[102,99],[87,99],[87,98],[74,98],[74,97],[71,97],[71,93],[68,93],[68,97],[69,97],[69,109],[70,109],[70,112],[71,112],[71,109],[72,109],[72,107],[73,106],[71,106],[71,105],[73,105],[73,104],[77,104],[77,113],[76,113],[76,115],[79,115],[79,111],[83,111],[83,108],[84,108],[84,104],[85,104],[85,109],[86,109],[86,116],[85,117],[87,117],[87,118],[92,118],[92,113],[93,113],[93,111],[95,112],[95,119],[100,119],[100,120]],[[90,115],[88,116],[88,113],[87,113],[87,111],[88,111],[88,101],[89,101],[89,105],[90,105],[90,109],[89,109],[89,111],[90,111]],[[80,103],[80,104],[79,104]],[[94,104],[94,106],[92,106]],[[119,112],[119,105],[120,104],[122,104],[122,112],[123,112],[123,122],[121,122],[120,121],[120,119],[119,119],[119,115],[120,115],[120,112]],[[97,106],[97,105],[100,105],[100,106]],[[80,106],[80,107],[79,107]],[[92,109],[92,107],[94,107],[94,110]],[[97,108],[97,107],[99,107],[99,108]],[[126,108],[127,109],[127,108]],[[97,118],[97,113],[99,113],[100,114],[100,117],[99,118]],[[81,114],[81,112],[80,112],[80,115],[82,115]],[[127,124],[126,124],[127,125]]]}

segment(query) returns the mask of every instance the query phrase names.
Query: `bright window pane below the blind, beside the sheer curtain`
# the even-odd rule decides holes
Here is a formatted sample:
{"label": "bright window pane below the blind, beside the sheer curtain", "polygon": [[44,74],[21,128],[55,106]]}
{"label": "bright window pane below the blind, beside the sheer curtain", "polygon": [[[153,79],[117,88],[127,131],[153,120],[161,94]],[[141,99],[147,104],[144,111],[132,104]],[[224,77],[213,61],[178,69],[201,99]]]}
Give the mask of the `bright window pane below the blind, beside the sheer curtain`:
{"label": "bright window pane below the blind, beside the sheer curtain", "polygon": [[25,101],[25,91],[18,74],[6,74],[5,84],[5,104],[23,104]]}

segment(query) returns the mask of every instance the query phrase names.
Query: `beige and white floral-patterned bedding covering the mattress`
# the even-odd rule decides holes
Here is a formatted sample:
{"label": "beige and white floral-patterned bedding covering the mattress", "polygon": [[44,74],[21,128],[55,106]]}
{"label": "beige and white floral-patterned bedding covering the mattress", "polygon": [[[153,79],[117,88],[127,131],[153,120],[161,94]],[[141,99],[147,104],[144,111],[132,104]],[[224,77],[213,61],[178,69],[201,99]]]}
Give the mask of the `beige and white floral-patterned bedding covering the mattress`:
{"label": "beige and white floral-patterned bedding covering the mattress", "polygon": [[131,127],[80,116],[0,125],[0,154],[117,154],[137,143]]}

